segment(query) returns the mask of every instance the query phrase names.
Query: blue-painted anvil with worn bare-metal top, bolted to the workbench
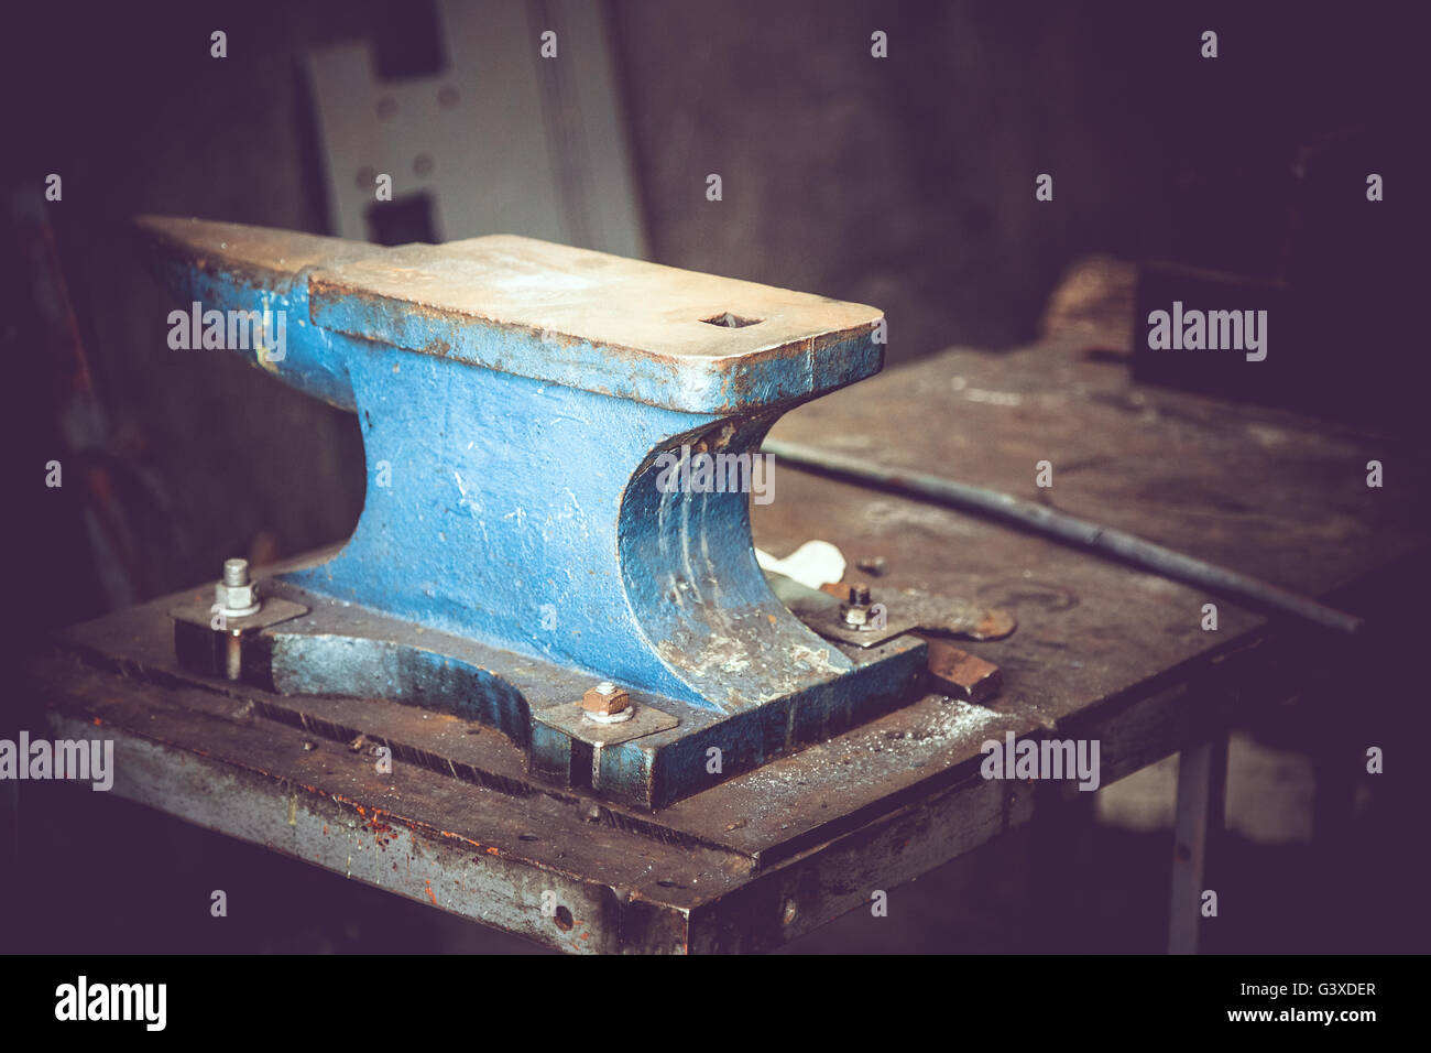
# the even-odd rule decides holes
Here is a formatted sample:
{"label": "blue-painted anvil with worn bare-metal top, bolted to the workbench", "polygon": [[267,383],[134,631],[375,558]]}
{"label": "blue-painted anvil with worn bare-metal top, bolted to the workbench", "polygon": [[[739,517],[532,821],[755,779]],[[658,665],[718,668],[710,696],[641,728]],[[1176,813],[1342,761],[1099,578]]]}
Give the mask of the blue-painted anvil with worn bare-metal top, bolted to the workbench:
{"label": "blue-painted anvil with worn bare-metal top, bolted to the workbench", "polygon": [[[673,487],[663,471],[691,450],[756,456],[787,408],[876,372],[873,308],[524,238],[385,249],[140,225],[183,299],[283,319],[283,347],[242,354],[358,414],[362,517],[336,557],[288,585],[391,619],[392,636],[489,649],[497,678],[535,659],[665,715],[587,726],[567,709],[575,696],[474,679],[534,766],[570,776],[585,742],[601,782],[602,751],[620,746],[608,787],[638,784],[658,804],[698,788],[677,761],[704,772],[714,746],[708,784],[887,709],[917,673],[914,640],[857,660],[786,610],[754,559],[747,493],[691,486],[694,473]],[[301,628],[265,630],[276,685],[372,689],[356,672],[345,688],[336,658],[285,676],[286,648],[313,659],[335,639]]]}

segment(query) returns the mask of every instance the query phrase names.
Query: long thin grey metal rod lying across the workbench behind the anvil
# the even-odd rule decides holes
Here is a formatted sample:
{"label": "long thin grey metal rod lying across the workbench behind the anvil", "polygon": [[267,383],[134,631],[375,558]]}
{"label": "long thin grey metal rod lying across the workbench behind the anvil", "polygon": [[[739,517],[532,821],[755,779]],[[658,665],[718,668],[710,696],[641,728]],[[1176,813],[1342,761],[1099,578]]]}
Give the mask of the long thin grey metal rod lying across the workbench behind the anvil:
{"label": "long thin grey metal rod lying across the workbench behind the anvil", "polygon": [[1328,629],[1357,633],[1362,628],[1362,619],[1355,615],[1328,607],[1301,593],[1268,582],[1259,582],[1255,577],[1239,574],[1215,563],[1185,556],[1181,552],[1145,542],[1142,537],[1135,537],[1122,530],[1113,530],[1112,527],[1090,523],[1086,519],[1046,509],[1042,504],[1010,497],[997,490],[986,490],[969,483],[956,483],[952,479],[927,476],[920,471],[896,471],[857,457],[826,453],[824,450],[800,446],[798,443],[767,438],[761,448],[796,468],[804,468],[814,474],[829,476],[846,483],[869,486],[876,490],[887,490],[906,497],[919,497],[934,504],[959,509],[960,511],[975,511],[989,516],[990,519],[1033,530],[1045,537],[1056,537],[1070,544],[1108,553],[1165,577],[1226,593],[1261,609],[1295,615]]}

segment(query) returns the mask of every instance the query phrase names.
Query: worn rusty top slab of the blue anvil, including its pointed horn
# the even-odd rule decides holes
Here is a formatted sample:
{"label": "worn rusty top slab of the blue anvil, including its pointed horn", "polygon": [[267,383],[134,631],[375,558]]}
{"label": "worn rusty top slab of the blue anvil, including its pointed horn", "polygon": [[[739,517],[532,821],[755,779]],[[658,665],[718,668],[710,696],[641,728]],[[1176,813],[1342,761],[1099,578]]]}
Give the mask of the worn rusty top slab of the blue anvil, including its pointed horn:
{"label": "worn rusty top slab of the blue anvil, including its pointed horn", "polygon": [[[384,248],[199,219],[139,226],[170,259],[229,285],[285,288],[306,271],[323,330],[673,408],[798,398],[880,365],[873,307],[531,238]],[[730,405],[665,391],[704,391],[724,374]]]}

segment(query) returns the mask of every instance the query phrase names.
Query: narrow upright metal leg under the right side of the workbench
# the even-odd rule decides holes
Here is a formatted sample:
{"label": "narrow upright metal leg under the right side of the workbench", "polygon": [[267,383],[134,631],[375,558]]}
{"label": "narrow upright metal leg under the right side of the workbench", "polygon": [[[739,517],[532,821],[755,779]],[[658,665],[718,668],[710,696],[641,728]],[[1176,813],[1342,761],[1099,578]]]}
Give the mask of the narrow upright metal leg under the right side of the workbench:
{"label": "narrow upright metal leg under the right side of the workbench", "polygon": [[[1178,758],[1168,953],[1196,954],[1203,918],[1209,845],[1222,832],[1228,789],[1228,732],[1189,746]],[[1211,890],[1216,893],[1216,890]]]}

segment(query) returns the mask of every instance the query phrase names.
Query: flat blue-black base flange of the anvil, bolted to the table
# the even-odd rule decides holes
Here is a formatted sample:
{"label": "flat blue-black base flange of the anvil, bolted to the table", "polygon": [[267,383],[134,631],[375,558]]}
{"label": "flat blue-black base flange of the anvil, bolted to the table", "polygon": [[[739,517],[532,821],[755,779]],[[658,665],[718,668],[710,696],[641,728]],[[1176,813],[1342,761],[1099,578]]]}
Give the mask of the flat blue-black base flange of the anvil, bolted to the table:
{"label": "flat blue-black base flange of the anvil, bolted to the table", "polygon": [[[837,735],[903,705],[919,692],[926,645],[902,636],[873,648],[841,646],[854,665],[814,686],[793,685],[788,695],[761,706],[721,713],[650,692],[633,691],[634,715],[620,723],[587,719],[580,706],[590,672],[564,669],[459,636],[438,633],[363,607],[298,589],[282,579],[262,585],[269,607],[282,605],[286,620],[255,616],[252,632],[236,619],[230,633],[209,623],[206,593],[167,597],[136,609],[135,620],[163,629],[177,615],[172,640],[136,652],[135,640],[114,640],[116,615],[67,633],[70,642],[100,660],[140,660],[165,678],[193,686],[235,691],[236,683],[266,692],[255,705],[270,719],[322,729],[323,706],[346,699],[345,718],[329,738],[386,738],[363,705],[378,699],[451,715],[499,732],[525,755],[537,779],[590,791],[637,808],[663,808],[758,768],[811,742]],[[147,633],[146,633],[147,638]],[[232,649],[240,649],[230,675]],[[322,734],[322,732],[321,732]],[[404,744],[391,744],[392,754]],[[478,781],[505,778],[479,772],[464,755],[442,764],[471,765]]]}

